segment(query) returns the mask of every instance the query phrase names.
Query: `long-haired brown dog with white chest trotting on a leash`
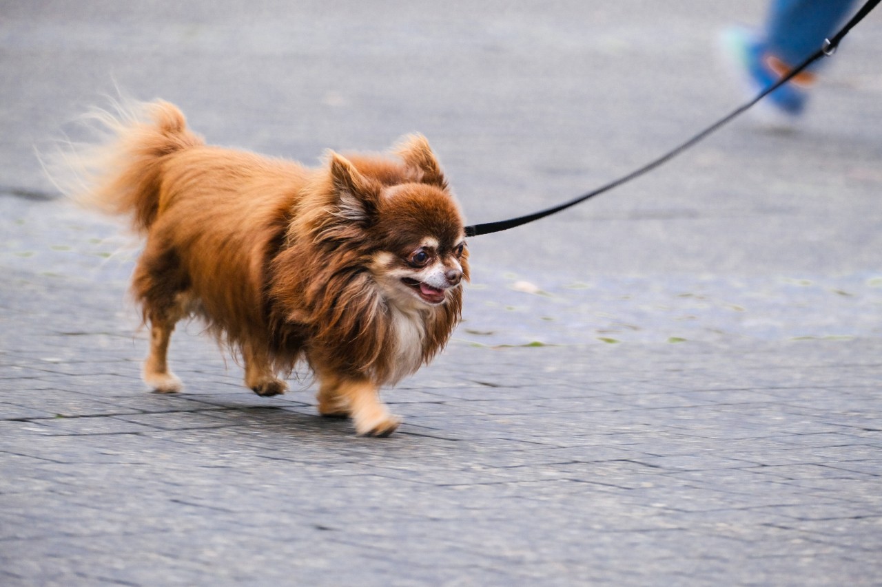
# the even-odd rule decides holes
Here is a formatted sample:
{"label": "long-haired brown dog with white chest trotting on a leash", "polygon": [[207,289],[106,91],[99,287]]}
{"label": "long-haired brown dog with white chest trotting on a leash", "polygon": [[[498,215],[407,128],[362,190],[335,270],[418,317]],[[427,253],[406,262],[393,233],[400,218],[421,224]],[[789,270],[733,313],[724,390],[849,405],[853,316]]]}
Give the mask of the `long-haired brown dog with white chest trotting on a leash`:
{"label": "long-haired brown dog with white chest trotting on a leash", "polygon": [[181,389],[168,340],[198,316],[258,395],[284,393],[277,374],[304,361],[320,413],[391,434],[400,419],[379,388],[445,346],[468,279],[462,215],[425,138],[397,159],[329,152],[307,168],[205,145],[168,102],[101,119],[115,137],[74,153],[76,196],[146,236],[132,279],[150,324],[146,383]]}

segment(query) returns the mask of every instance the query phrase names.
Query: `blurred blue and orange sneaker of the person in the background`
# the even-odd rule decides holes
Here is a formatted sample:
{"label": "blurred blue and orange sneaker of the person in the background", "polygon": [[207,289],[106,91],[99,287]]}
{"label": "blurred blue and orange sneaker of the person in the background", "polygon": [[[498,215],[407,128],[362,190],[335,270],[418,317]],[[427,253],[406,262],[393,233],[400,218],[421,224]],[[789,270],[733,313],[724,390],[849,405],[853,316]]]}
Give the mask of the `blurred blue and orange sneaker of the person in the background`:
{"label": "blurred blue and orange sneaker of the person in the background", "polygon": [[[750,29],[729,28],[721,35],[721,45],[746,82],[751,98],[756,98],[790,71],[789,64],[770,53],[759,35]],[[803,71],[760,100],[754,108],[766,117],[792,123],[805,109],[808,100],[806,90],[814,83],[814,78],[813,73]]]}

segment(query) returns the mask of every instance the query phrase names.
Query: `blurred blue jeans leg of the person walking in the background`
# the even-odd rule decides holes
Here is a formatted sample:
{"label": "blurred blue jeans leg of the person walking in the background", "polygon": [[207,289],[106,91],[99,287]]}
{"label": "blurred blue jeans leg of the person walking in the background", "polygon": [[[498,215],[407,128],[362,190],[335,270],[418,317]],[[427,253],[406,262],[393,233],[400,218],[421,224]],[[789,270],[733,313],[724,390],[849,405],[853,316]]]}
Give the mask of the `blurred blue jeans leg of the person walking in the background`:
{"label": "blurred blue jeans leg of the person walking in the background", "polygon": [[774,0],[766,18],[766,48],[790,67],[821,47],[842,25],[853,0]]}

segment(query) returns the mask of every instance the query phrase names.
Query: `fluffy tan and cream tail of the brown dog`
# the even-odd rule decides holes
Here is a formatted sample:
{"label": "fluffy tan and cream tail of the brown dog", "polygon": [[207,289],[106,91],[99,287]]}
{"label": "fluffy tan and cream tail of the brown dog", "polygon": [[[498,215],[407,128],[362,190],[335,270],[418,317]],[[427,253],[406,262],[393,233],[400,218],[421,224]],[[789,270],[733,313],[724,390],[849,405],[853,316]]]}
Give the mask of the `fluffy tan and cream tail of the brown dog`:
{"label": "fluffy tan and cream tail of the brown dog", "polygon": [[[204,145],[187,129],[183,113],[163,100],[116,103],[115,112],[86,116],[102,140],[73,145],[60,153],[49,175],[58,189],[79,204],[129,216],[144,233],[159,212],[163,162],[175,152]],[[68,173],[58,174],[57,167]]]}

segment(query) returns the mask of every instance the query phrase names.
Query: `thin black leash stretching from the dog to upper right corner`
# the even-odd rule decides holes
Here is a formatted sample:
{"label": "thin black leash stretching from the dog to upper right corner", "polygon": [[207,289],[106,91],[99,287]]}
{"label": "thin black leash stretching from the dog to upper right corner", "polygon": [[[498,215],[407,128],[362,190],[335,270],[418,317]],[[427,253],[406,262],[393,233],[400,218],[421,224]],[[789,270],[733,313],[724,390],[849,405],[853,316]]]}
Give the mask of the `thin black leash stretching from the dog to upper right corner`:
{"label": "thin black leash stretching from the dog to upper right corner", "polygon": [[637,179],[640,175],[649,173],[655,167],[662,166],[669,160],[674,159],[681,152],[689,149],[692,145],[695,145],[696,143],[704,140],[706,137],[714,133],[714,131],[720,129],[721,126],[729,123],[738,115],[743,114],[744,111],[746,111],[748,108],[751,108],[751,106],[759,102],[759,100],[762,100],[768,94],[773,93],[775,90],[781,87],[781,85],[784,85],[791,79],[795,78],[802,71],[804,71],[805,68],[811,65],[811,63],[818,61],[818,59],[820,59],[821,57],[832,56],[833,53],[836,51],[836,48],[839,47],[840,41],[842,41],[845,35],[848,34],[848,31],[850,31],[857,23],[863,20],[863,18],[867,16],[867,14],[869,14],[871,10],[876,8],[876,5],[880,1],[882,0],[868,0],[866,4],[863,4],[861,10],[857,11],[855,16],[848,21],[848,24],[846,26],[843,26],[841,31],[833,36],[833,39],[825,39],[823,45],[821,45],[821,48],[819,48],[815,53],[809,56],[803,63],[800,63],[798,66],[796,66],[795,69],[789,71],[789,73],[787,73],[787,75],[785,75],[783,78],[775,82],[774,85],[769,86],[766,90],[763,90],[761,93],[759,93],[759,96],[744,104],[744,106],[742,106],[741,108],[737,108],[731,114],[721,118],[716,123],[707,127],[705,130],[702,130],[697,135],[691,137],[682,145],[679,145],[671,151],[663,154],[658,159],[650,161],[649,163],[647,163],[647,165],[640,167],[636,171],[632,171],[628,175],[624,175],[623,177],[620,177],[613,182],[609,182],[600,188],[594,189],[594,191],[589,191],[587,194],[583,194],[582,196],[572,199],[569,202],[564,202],[564,204],[558,204],[552,208],[548,208],[547,210],[527,214],[527,216],[519,216],[518,218],[512,218],[508,220],[499,220],[497,222],[485,222],[484,224],[475,224],[470,227],[466,227],[466,236],[480,236],[481,234],[498,233],[503,230],[508,230],[509,228],[519,227],[521,225],[527,224],[528,222],[533,222],[534,220],[545,218],[546,216],[550,216],[551,214],[555,214],[557,212],[562,212],[571,206],[581,204],[589,198],[600,196],[605,191],[617,188],[623,183],[627,183],[632,181],[633,179]]}

